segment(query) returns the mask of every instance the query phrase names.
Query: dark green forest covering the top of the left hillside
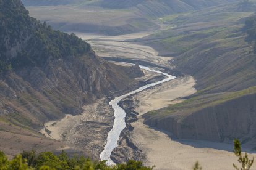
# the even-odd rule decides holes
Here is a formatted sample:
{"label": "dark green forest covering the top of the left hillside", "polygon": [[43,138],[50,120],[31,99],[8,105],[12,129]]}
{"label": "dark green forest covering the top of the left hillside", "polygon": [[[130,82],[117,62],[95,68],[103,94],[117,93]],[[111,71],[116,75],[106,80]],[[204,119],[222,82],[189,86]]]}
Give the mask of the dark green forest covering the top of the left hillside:
{"label": "dark green forest covering the top of the left hillside", "polygon": [[[0,71],[42,66],[49,59],[75,57],[90,51],[90,44],[74,33],[55,31],[45,22],[29,17],[17,0],[1,0],[0,27]],[[10,55],[8,51],[13,52]]]}

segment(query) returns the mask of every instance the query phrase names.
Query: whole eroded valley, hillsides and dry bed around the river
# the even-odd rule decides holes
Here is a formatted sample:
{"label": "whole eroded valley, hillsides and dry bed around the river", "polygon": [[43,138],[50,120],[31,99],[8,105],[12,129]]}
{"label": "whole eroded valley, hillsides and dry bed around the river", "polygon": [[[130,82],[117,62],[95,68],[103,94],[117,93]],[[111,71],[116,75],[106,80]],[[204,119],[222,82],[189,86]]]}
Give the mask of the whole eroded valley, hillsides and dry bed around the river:
{"label": "whole eroded valley, hillsides and dry bed around the river", "polygon": [[[4,2],[0,149],[8,156],[36,148],[99,160],[117,117],[109,102],[123,95],[116,105],[126,122],[108,161],[232,169],[235,138],[255,156],[255,54],[244,31],[254,2],[24,0],[42,22],[21,1]],[[139,65],[177,78],[130,94],[164,79]]]}

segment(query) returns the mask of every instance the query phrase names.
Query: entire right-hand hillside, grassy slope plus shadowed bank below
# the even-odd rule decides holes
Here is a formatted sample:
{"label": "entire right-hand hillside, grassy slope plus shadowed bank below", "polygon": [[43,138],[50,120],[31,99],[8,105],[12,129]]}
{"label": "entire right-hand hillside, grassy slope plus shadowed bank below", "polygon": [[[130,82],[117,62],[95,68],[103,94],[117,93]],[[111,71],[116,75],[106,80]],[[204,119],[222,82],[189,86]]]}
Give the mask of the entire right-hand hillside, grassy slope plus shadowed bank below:
{"label": "entire right-hand hillside, grassy slope plus shadowed bank below", "polygon": [[251,15],[241,4],[173,15],[163,19],[174,28],[140,39],[175,56],[176,70],[194,76],[198,89],[186,102],[148,113],[145,123],[180,139],[255,142],[255,54],[242,29]]}

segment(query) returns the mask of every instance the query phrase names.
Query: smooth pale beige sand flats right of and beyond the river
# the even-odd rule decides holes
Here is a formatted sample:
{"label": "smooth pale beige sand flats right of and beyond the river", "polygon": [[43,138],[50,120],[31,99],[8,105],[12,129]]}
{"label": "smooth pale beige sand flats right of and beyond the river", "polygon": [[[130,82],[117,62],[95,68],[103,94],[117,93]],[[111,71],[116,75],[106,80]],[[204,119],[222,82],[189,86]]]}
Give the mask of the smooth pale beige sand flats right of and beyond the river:
{"label": "smooth pale beige sand flats right of and beyond the river", "polygon": [[[139,33],[110,38],[101,37],[92,39],[92,44],[93,46],[100,45],[101,48],[96,48],[100,56],[113,57],[114,55],[125,59],[140,59],[160,65],[164,63],[164,67],[173,68],[174,66],[168,62],[173,58],[159,57],[156,56],[158,52],[151,47],[125,42],[126,39],[147,35],[147,33]],[[115,52],[108,55],[114,46],[117,46],[114,49]],[[192,169],[197,160],[200,161],[203,169],[233,169],[233,163],[237,162],[237,158],[232,152],[233,145],[198,140],[177,141],[171,139],[167,133],[156,131],[143,124],[141,116],[144,113],[182,102],[184,100],[182,97],[196,92],[195,83],[194,78],[187,75],[132,96],[135,103],[134,111],[139,113],[139,119],[131,124],[134,130],[129,133],[130,139],[121,142],[120,148],[123,147],[124,151],[130,151],[130,153],[126,153],[127,156],[132,158],[132,154],[134,154],[127,147],[127,142],[132,142],[137,150],[143,153],[140,156],[144,163],[156,165],[155,169]],[[117,154],[122,156],[120,152]],[[251,156],[256,157],[255,154]]]}

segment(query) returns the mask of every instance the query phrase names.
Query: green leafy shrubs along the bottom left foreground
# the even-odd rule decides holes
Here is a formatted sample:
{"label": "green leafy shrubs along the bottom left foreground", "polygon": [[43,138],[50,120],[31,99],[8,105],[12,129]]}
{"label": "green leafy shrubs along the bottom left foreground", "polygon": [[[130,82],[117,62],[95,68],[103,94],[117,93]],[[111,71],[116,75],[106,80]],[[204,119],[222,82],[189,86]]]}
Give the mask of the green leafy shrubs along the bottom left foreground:
{"label": "green leafy shrubs along the bottom left foreground", "polygon": [[38,155],[35,151],[23,152],[15,156],[12,160],[8,160],[7,156],[0,152],[0,170],[151,170],[153,168],[143,166],[140,161],[130,160],[126,164],[117,164],[115,166],[108,166],[106,161],[92,161],[90,158],[84,156],[74,156],[69,158],[66,152],[62,151],[59,155],[54,155],[52,152],[42,152]]}

